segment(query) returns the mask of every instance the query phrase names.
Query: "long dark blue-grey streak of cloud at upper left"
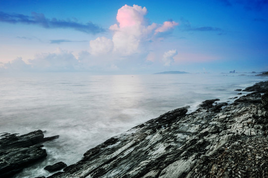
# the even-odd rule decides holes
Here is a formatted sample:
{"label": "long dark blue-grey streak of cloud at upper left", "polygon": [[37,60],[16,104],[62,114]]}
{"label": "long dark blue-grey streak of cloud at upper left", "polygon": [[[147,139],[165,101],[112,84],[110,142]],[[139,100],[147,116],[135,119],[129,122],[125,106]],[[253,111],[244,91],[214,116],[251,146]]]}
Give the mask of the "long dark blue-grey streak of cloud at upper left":
{"label": "long dark blue-grey streak of cloud at upper left", "polygon": [[78,23],[72,20],[58,20],[56,18],[48,19],[43,13],[32,12],[32,16],[23,14],[8,14],[0,11],[0,22],[6,23],[22,23],[28,25],[39,25],[43,28],[70,28],[87,34],[97,34],[105,32],[105,30],[92,22],[86,24]]}

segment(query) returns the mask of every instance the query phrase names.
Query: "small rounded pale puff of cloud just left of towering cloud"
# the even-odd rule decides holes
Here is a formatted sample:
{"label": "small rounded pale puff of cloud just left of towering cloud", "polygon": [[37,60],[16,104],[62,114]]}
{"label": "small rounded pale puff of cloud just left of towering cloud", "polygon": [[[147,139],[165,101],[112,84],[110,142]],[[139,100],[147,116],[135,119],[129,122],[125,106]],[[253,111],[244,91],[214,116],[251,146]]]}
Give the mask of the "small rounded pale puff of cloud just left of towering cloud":
{"label": "small rounded pale puff of cloud just left of towering cloud", "polygon": [[93,55],[107,54],[113,48],[113,42],[106,37],[98,37],[90,41],[89,45]]}

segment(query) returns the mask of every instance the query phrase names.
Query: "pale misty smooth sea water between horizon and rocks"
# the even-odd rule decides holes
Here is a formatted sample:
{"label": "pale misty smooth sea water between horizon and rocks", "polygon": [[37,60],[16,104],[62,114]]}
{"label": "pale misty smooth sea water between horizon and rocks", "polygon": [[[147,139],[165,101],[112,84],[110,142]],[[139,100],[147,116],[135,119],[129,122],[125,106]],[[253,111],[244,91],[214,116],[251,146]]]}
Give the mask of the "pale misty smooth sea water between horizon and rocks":
{"label": "pale misty smooth sea water between horizon and rocks", "polygon": [[[60,135],[45,142],[48,157],[15,178],[52,175],[47,165],[79,161],[88,149],[106,139],[186,105],[188,112],[206,99],[221,101],[234,89],[267,80],[255,74],[178,74],[92,76],[46,73],[0,76],[0,133],[47,131]],[[246,94],[247,92],[242,92]]]}

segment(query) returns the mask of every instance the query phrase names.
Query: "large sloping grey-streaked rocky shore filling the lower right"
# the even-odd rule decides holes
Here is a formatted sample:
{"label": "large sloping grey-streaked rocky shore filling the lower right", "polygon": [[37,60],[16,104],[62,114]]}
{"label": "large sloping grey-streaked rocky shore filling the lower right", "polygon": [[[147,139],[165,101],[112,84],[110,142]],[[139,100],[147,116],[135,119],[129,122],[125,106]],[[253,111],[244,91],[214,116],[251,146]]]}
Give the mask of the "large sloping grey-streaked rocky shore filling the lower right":
{"label": "large sloping grey-streaked rocky shore filling the lower right", "polygon": [[254,92],[169,111],[49,178],[267,178],[268,82],[243,91]]}

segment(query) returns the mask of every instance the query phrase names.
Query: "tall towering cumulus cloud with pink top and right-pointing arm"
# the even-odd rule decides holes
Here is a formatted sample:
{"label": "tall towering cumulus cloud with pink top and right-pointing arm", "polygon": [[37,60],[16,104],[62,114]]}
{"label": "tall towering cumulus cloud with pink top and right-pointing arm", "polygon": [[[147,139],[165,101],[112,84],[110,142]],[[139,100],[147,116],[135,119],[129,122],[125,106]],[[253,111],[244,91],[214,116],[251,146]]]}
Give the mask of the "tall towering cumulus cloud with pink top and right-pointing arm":
{"label": "tall towering cumulus cloud with pink top and right-pointing arm", "polygon": [[[113,43],[112,52],[114,54],[129,56],[142,52],[146,48],[145,44],[158,38],[161,33],[171,32],[178,25],[174,21],[166,21],[162,25],[157,23],[149,24],[145,18],[146,14],[146,7],[135,4],[133,6],[124,5],[118,9],[116,15],[118,23],[109,27],[109,30],[113,32],[111,41]],[[105,43],[105,41],[97,41],[98,45],[104,46],[101,43]],[[94,43],[94,41],[92,42]],[[107,47],[110,47],[110,45]],[[104,49],[101,51],[106,52]],[[109,50],[107,49],[107,51]],[[94,54],[92,47],[91,52]],[[95,54],[98,53],[100,52],[95,52]]]}

